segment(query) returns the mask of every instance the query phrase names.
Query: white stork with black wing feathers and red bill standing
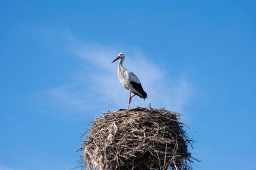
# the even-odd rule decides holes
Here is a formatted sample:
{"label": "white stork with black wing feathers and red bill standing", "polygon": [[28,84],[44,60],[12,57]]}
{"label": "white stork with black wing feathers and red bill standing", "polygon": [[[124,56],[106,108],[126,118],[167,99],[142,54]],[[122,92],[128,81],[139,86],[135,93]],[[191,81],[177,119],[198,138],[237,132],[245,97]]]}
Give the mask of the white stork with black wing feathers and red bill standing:
{"label": "white stork with black wing feathers and red bill standing", "polygon": [[[129,91],[129,101],[128,101],[128,110],[129,110],[129,104],[132,101],[132,97],[137,95],[141,98],[144,98],[145,100],[145,98],[147,98],[147,94],[142,88],[142,83],[141,81],[139,81],[139,78],[133,72],[124,68],[123,66],[124,59],[125,59],[124,53],[119,53],[117,58],[115,58],[112,61],[112,63],[117,60],[120,60],[117,67],[117,75],[122,86],[124,86],[124,88]],[[134,95],[131,96],[131,93],[133,93]]]}

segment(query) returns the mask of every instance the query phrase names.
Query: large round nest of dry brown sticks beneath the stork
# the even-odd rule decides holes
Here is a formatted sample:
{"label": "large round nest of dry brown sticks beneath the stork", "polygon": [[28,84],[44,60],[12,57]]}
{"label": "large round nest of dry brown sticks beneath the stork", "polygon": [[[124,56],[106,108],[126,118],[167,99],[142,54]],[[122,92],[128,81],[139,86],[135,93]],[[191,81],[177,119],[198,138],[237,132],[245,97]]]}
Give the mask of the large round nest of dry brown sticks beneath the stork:
{"label": "large round nest of dry brown sticks beneath the stork", "polygon": [[[181,114],[164,108],[108,111],[91,122],[82,142],[82,169],[192,169],[193,142],[178,121]],[[192,145],[191,145],[192,147]]]}

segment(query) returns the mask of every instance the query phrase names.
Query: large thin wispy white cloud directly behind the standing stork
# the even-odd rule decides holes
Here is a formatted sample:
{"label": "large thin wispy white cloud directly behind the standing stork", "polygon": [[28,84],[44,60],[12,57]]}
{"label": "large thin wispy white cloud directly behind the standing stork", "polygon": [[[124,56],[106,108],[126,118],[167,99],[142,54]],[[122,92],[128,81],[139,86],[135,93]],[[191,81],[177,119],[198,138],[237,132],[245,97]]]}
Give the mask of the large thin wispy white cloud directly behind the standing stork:
{"label": "large thin wispy white cloud directly behind the standing stork", "polygon": [[119,52],[124,52],[124,67],[137,74],[148,94],[144,101],[134,97],[131,106],[166,107],[181,111],[191,95],[186,77],[170,77],[167,69],[150,62],[137,49],[105,47],[102,45],[79,45],[71,51],[80,60],[80,69],[73,76],[73,84],[50,89],[46,93],[55,106],[83,110],[100,108],[127,108],[129,92],[122,87],[117,77],[117,62],[111,63]]}

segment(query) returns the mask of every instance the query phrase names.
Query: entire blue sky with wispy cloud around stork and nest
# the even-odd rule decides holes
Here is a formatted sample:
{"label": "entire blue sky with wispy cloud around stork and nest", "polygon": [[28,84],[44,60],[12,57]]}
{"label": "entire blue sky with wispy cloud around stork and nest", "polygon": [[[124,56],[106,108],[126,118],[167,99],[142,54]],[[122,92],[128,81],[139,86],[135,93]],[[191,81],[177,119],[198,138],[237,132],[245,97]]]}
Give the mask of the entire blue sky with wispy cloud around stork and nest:
{"label": "entire blue sky with wispy cloud around stork and nest", "polygon": [[149,96],[132,107],[183,113],[199,169],[256,169],[255,6],[0,1],[0,170],[78,165],[87,123],[127,108],[119,52]]}

